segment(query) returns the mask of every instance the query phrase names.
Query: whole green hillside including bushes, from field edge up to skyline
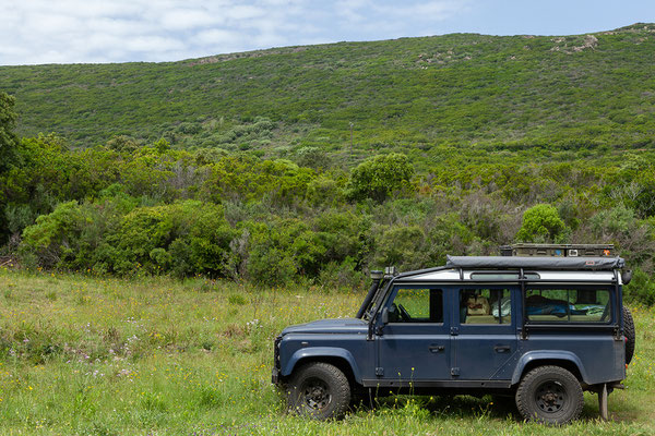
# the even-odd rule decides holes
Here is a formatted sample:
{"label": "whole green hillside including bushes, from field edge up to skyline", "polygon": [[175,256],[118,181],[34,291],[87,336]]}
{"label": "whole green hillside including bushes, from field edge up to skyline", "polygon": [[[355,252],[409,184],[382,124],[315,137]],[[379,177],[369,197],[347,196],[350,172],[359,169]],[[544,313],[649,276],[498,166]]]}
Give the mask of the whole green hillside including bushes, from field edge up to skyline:
{"label": "whole green hillside including bushes, from field edge up to skyline", "polygon": [[362,289],[386,265],[603,242],[655,305],[654,38],[0,68],[0,261]]}

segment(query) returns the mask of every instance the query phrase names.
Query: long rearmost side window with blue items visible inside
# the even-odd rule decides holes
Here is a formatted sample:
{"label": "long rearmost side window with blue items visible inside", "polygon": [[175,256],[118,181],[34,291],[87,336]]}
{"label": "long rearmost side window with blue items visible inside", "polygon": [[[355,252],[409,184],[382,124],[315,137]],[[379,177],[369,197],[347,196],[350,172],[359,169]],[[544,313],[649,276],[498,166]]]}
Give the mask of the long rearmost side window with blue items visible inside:
{"label": "long rearmost side window with blue items visible inside", "polygon": [[525,314],[533,323],[608,323],[608,289],[527,289]]}

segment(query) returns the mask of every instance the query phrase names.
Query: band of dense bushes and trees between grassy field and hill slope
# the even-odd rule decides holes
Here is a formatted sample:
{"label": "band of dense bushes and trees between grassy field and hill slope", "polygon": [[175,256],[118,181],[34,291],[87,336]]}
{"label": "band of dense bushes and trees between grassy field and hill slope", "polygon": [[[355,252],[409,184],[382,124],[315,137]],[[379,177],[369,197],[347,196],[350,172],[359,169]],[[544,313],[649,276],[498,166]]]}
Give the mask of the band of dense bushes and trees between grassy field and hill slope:
{"label": "band of dense bushes and trees between grassy field and hill slope", "polygon": [[628,298],[655,303],[647,150],[391,150],[344,168],[317,147],[288,159],[126,137],[71,148],[52,134],[17,138],[15,120],[0,93],[0,245],[26,268],[361,288],[386,265],[604,242],[635,269]]}

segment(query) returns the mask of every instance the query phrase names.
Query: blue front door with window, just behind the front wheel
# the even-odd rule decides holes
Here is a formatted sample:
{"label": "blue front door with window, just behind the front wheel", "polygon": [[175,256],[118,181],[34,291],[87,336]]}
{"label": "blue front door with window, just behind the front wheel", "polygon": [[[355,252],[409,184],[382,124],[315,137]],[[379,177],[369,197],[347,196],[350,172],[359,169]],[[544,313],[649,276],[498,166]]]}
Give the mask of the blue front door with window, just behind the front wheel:
{"label": "blue front door with window, just behind the front wheel", "polygon": [[383,312],[376,341],[376,374],[386,380],[438,380],[450,378],[450,311],[445,292],[426,286],[395,286]]}

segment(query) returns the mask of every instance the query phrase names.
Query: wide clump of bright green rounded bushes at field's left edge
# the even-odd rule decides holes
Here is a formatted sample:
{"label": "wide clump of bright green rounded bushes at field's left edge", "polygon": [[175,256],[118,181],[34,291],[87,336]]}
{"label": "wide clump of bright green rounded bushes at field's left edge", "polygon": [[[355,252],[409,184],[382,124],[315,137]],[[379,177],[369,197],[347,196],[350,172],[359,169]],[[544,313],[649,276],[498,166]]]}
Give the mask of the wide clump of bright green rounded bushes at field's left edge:
{"label": "wide clump of bright green rounded bushes at field's left edge", "polygon": [[186,201],[135,207],[133,198],[119,196],[61,203],[25,229],[21,250],[46,268],[221,276],[234,235],[221,206]]}

